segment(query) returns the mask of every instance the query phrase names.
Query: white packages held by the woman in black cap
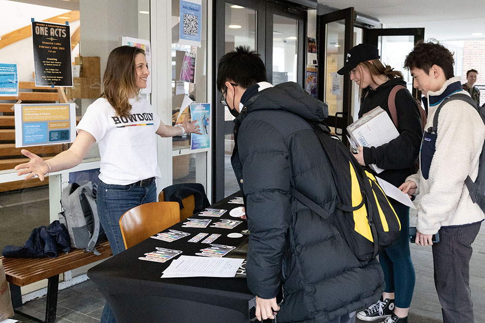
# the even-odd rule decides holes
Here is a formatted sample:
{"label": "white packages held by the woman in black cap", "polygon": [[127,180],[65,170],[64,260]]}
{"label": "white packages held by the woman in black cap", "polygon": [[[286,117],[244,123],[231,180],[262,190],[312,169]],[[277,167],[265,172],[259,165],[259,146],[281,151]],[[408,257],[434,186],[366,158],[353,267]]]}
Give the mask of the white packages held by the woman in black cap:
{"label": "white packages held by the woman in black cap", "polygon": [[[381,107],[373,108],[362,118],[347,127],[350,144],[353,146],[379,147],[399,136],[394,123]],[[384,169],[369,165],[376,173]]]}

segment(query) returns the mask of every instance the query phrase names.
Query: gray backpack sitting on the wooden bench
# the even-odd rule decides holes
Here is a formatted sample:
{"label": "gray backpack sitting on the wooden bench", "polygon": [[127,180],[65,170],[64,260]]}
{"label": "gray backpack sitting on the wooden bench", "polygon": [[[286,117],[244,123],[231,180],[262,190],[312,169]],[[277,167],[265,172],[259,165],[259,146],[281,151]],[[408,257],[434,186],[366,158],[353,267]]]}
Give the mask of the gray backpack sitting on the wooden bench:
{"label": "gray backpack sitting on the wooden bench", "polygon": [[64,211],[59,213],[59,221],[69,231],[71,247],[99,255],[95,246],[106,238],[106,234],[99,222],[93,182],[81,186],[69,184],[62,191],[61,205]]}

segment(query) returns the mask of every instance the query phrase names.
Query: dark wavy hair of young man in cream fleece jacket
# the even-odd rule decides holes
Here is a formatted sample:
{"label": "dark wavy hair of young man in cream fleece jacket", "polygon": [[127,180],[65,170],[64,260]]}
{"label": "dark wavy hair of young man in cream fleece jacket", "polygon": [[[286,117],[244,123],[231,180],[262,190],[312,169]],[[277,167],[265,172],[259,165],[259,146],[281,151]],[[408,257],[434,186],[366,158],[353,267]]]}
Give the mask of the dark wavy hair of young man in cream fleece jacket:
{"label": "dark wavy hair of young man in cream fleece jacket", "polygon": [[434,40],[424,43],[420,41],[414,49],[407,54],[404,61],[404,67],[411,70],[419,68],[429,75],[429,70],[433,65],[437,65],[443,69],[446,79],[454,76],[453,73],[453,53],[445,46],[434,43]]}

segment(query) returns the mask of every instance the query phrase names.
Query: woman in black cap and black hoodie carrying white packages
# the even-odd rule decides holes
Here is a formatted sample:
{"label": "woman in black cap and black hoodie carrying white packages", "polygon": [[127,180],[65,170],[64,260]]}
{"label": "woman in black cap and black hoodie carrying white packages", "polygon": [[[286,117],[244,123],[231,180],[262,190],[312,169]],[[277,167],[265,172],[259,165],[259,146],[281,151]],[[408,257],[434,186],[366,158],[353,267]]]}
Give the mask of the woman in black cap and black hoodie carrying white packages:
{"label": "woman in black cap and black hoodie carrying white packages", "polygon": [[[384,169],[379,177],[399,187],[403,183],[401,179],[416,172],[415,163],[422,137],[419,107],[406,89],[403,74],[379,61],[377,47],[370,44],[351,48],[346,55],[345,65],[337,73],[350,73],[350,79],[359,87],[359,118],[373,108],[381,107],[392,120],[392,107],[389,106],[394,106],[394,124],[399,136],[379,147],[357,147],[358,154],[354,156],[360,165],[376,164]],[[386,289],[380,300],[358,312],[357,318],[363,321],[386,319],[386,323],[407,323],[415,284],[408,241],[409,207],[392,199],[390,202],[401,221],[401,235],[379,254]]]}

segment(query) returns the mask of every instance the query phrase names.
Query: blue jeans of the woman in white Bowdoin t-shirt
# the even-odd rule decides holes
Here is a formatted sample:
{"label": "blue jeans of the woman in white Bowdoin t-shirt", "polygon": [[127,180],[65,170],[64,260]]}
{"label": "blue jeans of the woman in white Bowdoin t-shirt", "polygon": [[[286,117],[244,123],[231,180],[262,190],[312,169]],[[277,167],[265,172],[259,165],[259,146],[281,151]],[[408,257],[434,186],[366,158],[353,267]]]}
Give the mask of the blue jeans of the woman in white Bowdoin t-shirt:
{"label": "blue jeans of the woman in white Bowdoin t-shirt", "polygon": [[[99,181],[97,189],[97,213],[103,226],[113,255],[125,250],[125,243],[119,226],[121,215],[135,206],[156,202],[157,186],[155,183],[146,187],[112,185]],[[101,323],[115,323],[113,312],[108,303],[104,306]]]}

